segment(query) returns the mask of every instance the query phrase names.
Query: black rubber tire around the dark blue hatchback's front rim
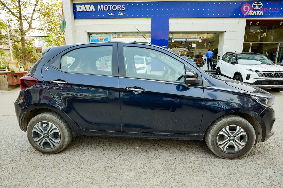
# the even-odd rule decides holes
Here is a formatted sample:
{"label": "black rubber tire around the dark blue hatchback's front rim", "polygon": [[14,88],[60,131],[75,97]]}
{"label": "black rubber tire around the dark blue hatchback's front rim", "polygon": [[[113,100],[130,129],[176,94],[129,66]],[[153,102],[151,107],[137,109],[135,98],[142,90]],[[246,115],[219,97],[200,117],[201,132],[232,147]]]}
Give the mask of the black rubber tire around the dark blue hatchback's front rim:
{"label": "black rubber tire around the dark blue hatchback's front rim", "polygon": [[[245,146],[239,151],[235,151],[232,153],[225,152],[224,150],[220,149],[220,147],[217,144],[218,133],[228,125],[236,125],[244,129],[247,138]],[[255,144],[255,141],[256,141],[256,133],[252,125],[244,118],[236,115],[223,116],[222,118],[219,118],[207,129],[205,133],[205,142],[208,148],[216,156],[224,159],[237,159],[244,156],[245,154],[250,152],[250,150]]]}

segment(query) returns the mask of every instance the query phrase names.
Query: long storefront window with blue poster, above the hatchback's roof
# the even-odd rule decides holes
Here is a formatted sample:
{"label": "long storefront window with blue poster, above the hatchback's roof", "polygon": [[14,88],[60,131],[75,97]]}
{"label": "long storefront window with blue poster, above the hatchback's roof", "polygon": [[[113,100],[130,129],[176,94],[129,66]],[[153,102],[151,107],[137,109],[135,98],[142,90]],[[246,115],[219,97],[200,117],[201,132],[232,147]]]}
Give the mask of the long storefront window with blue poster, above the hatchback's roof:
{"label": "long storefront window with blue poster, above the hatchback's roof", "polygon": [[[143,37],[144,36],[144,37]],[[110,33],[91,33],[90,42],[151,42],[151,32],[110,32]],[[148,42],[147,42],[148,41]]]}

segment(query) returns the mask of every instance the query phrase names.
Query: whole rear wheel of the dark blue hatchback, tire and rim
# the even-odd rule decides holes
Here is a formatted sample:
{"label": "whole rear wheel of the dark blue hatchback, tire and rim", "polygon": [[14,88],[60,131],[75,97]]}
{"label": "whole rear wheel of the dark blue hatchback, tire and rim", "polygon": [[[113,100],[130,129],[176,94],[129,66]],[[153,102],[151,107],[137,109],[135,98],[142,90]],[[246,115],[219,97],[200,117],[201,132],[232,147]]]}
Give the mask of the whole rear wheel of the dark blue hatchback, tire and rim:
{"label": "whole rear wheel of the dark blue hatchback, tire and rim", "polygon": [[72,132],[61,116],[44,112],[32,118],[27,125],[27,138],[37,151],[53,154],[67,147]]}

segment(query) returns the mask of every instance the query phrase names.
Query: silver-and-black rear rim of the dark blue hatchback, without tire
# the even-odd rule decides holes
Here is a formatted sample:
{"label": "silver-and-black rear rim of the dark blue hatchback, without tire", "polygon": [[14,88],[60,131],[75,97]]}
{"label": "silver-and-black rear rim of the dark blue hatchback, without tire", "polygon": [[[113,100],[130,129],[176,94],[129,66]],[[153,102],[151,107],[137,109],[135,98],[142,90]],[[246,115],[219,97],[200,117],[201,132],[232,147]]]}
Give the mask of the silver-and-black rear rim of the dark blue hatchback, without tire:
{"label": "silver-and-black rear rim of the dark blue hatchback, without tire", "polygon": [[51,149],[60,142],[59,129],[48,121],[37,123],[33,127],[32,137],[35,143],[44,149]]}

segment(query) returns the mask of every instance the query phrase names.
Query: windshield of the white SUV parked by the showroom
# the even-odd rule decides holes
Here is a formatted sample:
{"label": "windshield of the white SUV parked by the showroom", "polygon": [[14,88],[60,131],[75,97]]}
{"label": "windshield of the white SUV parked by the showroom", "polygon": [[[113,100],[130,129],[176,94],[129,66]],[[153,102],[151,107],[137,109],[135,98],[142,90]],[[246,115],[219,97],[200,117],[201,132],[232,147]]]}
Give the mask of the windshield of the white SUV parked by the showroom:
{"label": "windshield of the white SUV parked by the showroom", "polygon": [[273,65],[272,61],[270,61],[265,56],[259,55],[238,55],[238,63],[239,65]]}

